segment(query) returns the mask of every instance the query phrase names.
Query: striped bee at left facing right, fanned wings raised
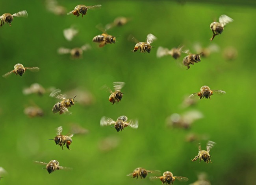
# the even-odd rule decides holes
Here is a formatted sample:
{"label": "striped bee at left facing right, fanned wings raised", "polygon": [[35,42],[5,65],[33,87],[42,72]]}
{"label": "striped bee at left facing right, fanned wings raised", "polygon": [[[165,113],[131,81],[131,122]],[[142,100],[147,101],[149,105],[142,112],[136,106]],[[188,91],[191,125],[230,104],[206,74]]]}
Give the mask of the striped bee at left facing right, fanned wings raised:
{"label": "striped bee at left facing right, fanned wings raised", "polygon": [[50,97],[54,97],[54,98],[57,98],[57,99],[62,99],[62,101],[56,103],[53,106],[52,112],[53,113],[59,112],[59,114],[63,114],[64,112],[69,112],[68,107],[71,107],[71,105],[75,104],[74,99],[75,99],[76,96],[74,98],[67,99],[66,95],[59,94],[60,92],[61,92],[60,89],[56,89],[56,90],[54,90],[50,93]]}

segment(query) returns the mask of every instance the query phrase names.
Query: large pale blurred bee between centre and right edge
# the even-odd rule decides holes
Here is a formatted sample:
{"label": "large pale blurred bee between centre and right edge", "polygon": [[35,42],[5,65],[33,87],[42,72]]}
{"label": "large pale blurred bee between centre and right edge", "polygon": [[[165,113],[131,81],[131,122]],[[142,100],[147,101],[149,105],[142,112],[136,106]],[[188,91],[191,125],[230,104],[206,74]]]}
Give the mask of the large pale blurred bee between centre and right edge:
{"label": "large pale blurred bee between centre and right edge", "polygon": [[180,127],[180,128],[189,128],[190,125],[197,119],[204,117],[201,112],[197,110],[191,110],[183,115],[174,113],[167,118],[166,123],[168,126]]}

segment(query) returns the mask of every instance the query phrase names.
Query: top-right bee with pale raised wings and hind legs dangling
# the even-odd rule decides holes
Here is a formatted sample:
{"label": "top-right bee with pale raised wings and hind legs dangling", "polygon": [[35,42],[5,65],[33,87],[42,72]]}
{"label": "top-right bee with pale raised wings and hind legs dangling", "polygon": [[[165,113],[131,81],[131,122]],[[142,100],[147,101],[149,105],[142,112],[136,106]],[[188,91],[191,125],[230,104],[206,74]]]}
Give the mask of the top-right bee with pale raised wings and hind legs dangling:
{"label": "top-right bee with pale raised wings and hind legs dangling", "polygon": [[219,22],[212,22],[210,25],[210,28],[213,33],[213,36],[210,38],[210,41],[212,41],[216,35],[221,34],[223,32],[223,29],[226,26],[226,24],[228,24],[229,22],[232,22],[232,21],[233,21],[233,19],[230,18],[229,16],[221,15],[219,17]]}

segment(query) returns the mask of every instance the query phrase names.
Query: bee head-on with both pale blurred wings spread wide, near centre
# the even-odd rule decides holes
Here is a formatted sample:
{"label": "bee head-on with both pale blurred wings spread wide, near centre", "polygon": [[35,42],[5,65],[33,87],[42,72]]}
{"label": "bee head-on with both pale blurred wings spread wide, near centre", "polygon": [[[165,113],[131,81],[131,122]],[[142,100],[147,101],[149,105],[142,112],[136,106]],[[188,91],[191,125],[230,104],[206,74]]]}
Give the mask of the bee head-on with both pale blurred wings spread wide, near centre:
{"label": "bee head-on with both pale blurred wings spread wide, near centre", "polygon": [[117,132],[119,132],[120,130],[122,131],[126,126],[130,126],[135,129],[138,128],[139,125],[137,119],[135,121],[129,120],[129,122],[127,122],[127,120],[128,118],[125,115],[117,118],[117,121],[114,121],[113,119],[104,116],[100,119],[100,126],[114,125],[112,127],[115,127]]}

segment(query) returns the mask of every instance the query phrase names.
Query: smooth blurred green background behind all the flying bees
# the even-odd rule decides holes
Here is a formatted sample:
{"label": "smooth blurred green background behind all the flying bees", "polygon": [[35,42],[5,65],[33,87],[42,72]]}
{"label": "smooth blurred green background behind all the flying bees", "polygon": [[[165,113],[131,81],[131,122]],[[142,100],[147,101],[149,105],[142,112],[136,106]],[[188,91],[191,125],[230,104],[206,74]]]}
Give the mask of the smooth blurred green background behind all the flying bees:
{"label": "smooth blurred green background behind all the flying bees", "polygon": [[[89,1],[59,0],[59,5],[71,11],[78,4],[102,4],[95,11],[76,18],[73,15],[57,16],[46,9],[45,1],[12,0],[0,2],[0,14],[28,12],[28,18],[14,18],[12,26],[0,28],[0,74],[13,70],[17,63],[25,67],[37,66],[38,73],[27,71],[22,77],[11,75],[0,79],[0,166],[1,184],[160,184],[161,181],[132,179],[126,174],[137,167],[148,170],[169,170],[174,176],[185,176],[188,185],[197,180],[198,172],[206,172],[212,185],[255,183],[256,174],[256,117],[255,72],[256,63],[256,11],[251,1]],[[248,3],[247,3],[248,2]],[[234,19],[213,43],[220,48],[208,58],[191,66],[180,68],[171,56],[156,57],[159,46],[173,48],[184,44],[191,52],[199,42],[202,47],[210,44],[210,24],[226,14]],[[106,25],[117,16],[132,18],[122,27],[108,31],[117,37],[116,44],[98,48],[92,38],[101,32],[97,24]],[[75,25],[79,33],[69,42],[63,37],[63,29]],[[156,40],[150,54],[133,53],[135,43],[127,40],[130,34],[145,41],[148,33]],[[83,59],[72,60],[69,55],[58,55],[59,47],[74,48],[88,43],[92,49],[85,51]],[[226,60],[223,51],[227,47],[237,49],[233,60]],[[123,81],[126,85],[121,103],[111,105],[109,93],[100,90],[106,84]],[[52,114],[57,99],[46,93],[23,95],[22,89],[32,83],[45,88],[54,86],[63,92],[75,88],[87,90],[93,95],[92,104],[79,103],[69,110],[71,115]],[[203,85],[226,91],[225,95],[213,95],[202,99],[192,108],[180,108],[185,96],[198,92]],[[75,94],[74,94],[75,95]],[[74,96],[72,95],[72,97]],[[33,103],[45,111],[43,117],[30,118],[23,113]],[[189,130],[168,128],[165,119],[173,113],[199,110],[203,119],[195,121]],[[100,127],[102,116],[117,119],[126,115],[139,120],[139,128],[125,128],[117,133],[110,126]],[[72,137],[71,150],[61,150],[54,141],[56,128],[63,126],[63,134],[76,123],[89,130],[89,134]],[[212,163],[191,162],[198,153],[198,142],[205,149],[207,139],[186,142],[189,133],[206,135],[217,144],[211,150]],[[108,152],[99,149],[102,139],[115,136],[119,145]],[[61,166],[73,170],[59,170],[48,174],[42,166],[56,159]]]}

